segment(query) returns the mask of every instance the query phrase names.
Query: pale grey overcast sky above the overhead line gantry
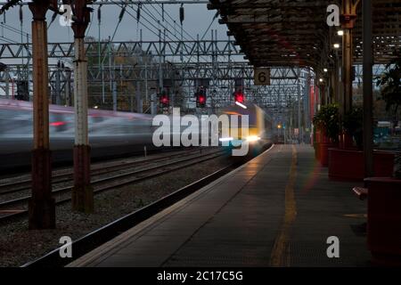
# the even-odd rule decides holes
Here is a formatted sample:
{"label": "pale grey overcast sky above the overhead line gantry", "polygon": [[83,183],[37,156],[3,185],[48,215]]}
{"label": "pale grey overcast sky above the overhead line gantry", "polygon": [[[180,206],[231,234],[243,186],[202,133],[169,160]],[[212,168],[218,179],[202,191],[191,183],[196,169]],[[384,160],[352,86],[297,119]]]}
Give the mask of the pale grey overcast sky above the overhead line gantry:
{"label": "pale grey overcast sky above the overhead line gantry", "polygon": [[[3,0],[2,0],[3,1]],[[88,35],[92,37],[98,37],[98,21],[97,21],[97,7],[98,5],[94,5],[94,13],[92,14],[92,23],[88,30]],[[132,9],[134,8],[134,9]],[[20,29],[20,20],[19,20],[19,7],[12,8],[7,11],[5,14],[5,23],[13,28]],[[119,19],[119,12],[121,8],[118,5],[103,5],[102,6],[102,26],[101,26],[101,38],[107,39],[107,37],[112,36],[114,29],[117,26]],[[212,21],[216,11],[208,11],[206,4],[184,4],[185,11],[185,19],[184,19],[184,30],[191,35],[192,38],[196,38],[196,35],[199,34],[200,37],[205,33],[206,29],[209,27],[210,22]],[[23,6],[23,30],[25,32],[30,32],[30,22],[32,19],[31,12],[29,11],[28,6]],[[125,13],[123,20],[119,24],[118,31],[116,36],[114,37],[115,41],[127,41],[127,40],[137,40],[139,38],[139,33],[137,32],[139,29],[143,29],[143,40],[154,40],[157,37],[144,25],[151,28],[153,31],[157,32],[157,28],[151,27],[151,24],[158,27],[157,20],[151,19],[151,16],[147,15],[147,12],[151,12],[158,20],[161,20],[161,7],[158,4],[143,4],[143,10],[141,12],[141,22],[143,24],[139,24],[137,27],[136,20],[128,14],[131,13],[134,17],[136,16],[136,5],[131,5],[127,7],[127,12]],[[179,5],[178,4],[165,4],[165,22],[161,22],[161,25],[167,27],[169,30],[174,32],[174,21],[176,20],[176,29],[180,29],[179,24]],[[52,12],[47,13],[47,21],[50,22],[52,17]],[[151,23],[146,22],[146,19],[150,20]],[[0,21],[3,22],[3,16],[0,16]],[[168,22],[168,23],[167,23]],[[219,39],[226,39],[226,26],[219,25],[217,19],[214,20],[212,27],[213,29],[217,29],[217,37]],[[176,33],[176,37],[168,34],[172,39],[177,39],[176,37],[180,37],[179,33]],[[5,42],[6,37],[8,40],[18,41],[20,42],[20,35],[15,32],[12,32],[6,28],[1,28],[0,31],[0,42]],[[188,35],[184,35],[186,38],[190,38]],[[210,38],[210,31],[207,34],[207,37]],[[72,30],[69,27],[61,27],[59,23],[59,19],[54,20],[53,24],[49,28],[48,41],[49,42],[71,42],[73,40]]]}

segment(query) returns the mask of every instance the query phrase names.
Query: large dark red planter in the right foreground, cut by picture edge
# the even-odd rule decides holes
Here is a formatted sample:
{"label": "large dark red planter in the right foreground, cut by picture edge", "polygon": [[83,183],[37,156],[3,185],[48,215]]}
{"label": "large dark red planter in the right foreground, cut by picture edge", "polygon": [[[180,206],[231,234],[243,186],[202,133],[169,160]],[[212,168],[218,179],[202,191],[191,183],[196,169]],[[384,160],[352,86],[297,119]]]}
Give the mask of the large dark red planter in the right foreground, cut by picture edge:
{"label": "large dark red planter in the right foreground, cut by picture edge", "polygon": [[367,242],[373,261],[401,265],[401,180],[373,177],[369,190]]}

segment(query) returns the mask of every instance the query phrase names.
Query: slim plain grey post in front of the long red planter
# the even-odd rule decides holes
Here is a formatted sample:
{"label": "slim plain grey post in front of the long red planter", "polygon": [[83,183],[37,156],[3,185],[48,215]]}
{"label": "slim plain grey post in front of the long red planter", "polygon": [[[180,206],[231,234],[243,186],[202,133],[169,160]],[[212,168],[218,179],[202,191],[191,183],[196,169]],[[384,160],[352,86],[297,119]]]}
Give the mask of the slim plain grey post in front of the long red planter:
{"label": "slim plain grey post in front of the long red planter", "polygon": [[364,176],[373,175],[373,116],[372,116],[372,2],[362,4],[364,49]]}

